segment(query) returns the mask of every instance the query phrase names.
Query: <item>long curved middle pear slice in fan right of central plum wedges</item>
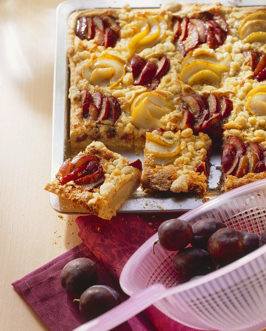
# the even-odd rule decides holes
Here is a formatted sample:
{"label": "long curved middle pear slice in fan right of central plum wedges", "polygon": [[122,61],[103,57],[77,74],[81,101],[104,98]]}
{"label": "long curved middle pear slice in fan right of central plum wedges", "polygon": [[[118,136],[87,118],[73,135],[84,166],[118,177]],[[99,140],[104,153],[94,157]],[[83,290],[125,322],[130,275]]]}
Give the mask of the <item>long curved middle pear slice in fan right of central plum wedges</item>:
{"label": "long curved middle pear slice in fan right of central plum wedges", "polygon": [[219,64],[213,64],[208,63],[204,61],[195,61],[190,62],[188,65],[186,65],[180,73],[180,79],[187,84],[189,78],[194,75],[198,71],[202,70],[210,70],[216,73],[216,75],[220,76],[222,72],[229,71],[229,68],[219,65]]}

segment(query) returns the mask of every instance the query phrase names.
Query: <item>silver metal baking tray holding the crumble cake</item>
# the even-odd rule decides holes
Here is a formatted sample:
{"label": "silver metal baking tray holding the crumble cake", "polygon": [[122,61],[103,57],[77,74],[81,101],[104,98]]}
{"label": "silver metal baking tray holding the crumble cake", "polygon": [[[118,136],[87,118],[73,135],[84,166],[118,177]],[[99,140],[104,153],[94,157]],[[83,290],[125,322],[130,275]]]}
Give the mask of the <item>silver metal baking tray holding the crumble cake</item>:
{"label": "silver metal baking tray holding the crumble cake", "polygon": [[[179,1],[179,3],[212,3],[213,1]],[[66,55],[66,36],[67,36],[67,20],[69,15],[76,10],[93,9],[93,8],[121,8],[125,4],[129,4],[132,8],[159,8],[161,0],[146,0],[145,5],[141,1],[135,0],[117,0],[110,3],[107,0],[101,2],[96,0],[70,0],[62,2],[57,7],[56,15],[56,45],[55,45],[55,68],[54,68],[54,99],[53,99],[53,136],[52,136],[52,165],[51,165],[51,180],[68,157],[72,157],[79,151],[71,150],[69,146],[69,114],[70,100],[68,99],[69,89],[69,68],[68,58]],[[232,4],[241,6],[252,6],[251,0],[240,1],[221,1],[223,4]],[[257,0],[256,6],[265,5],[265,0]],[[143,153],[136,155],[134,150],[124,151],[123,149],[113,149],[129,160],[140,159],[143,161]],[[221,192],[217,189],[221,177],[221,150],[220,147],[213,146],[210,157],[210,175],[209,175],[209,193],[205,197],[198,197],[192,193],[169,193],[156,192],[145,194],[141,188],[127,199],[125,204],[120,208],[119,212],[174,212],[188,211],[193,209],[204,201],[215,197]],[[83,209],[74,206],[70,202],[59,198],[57,195],[50,193],[50,204],[58,213],[64,214],[88,214]]]}

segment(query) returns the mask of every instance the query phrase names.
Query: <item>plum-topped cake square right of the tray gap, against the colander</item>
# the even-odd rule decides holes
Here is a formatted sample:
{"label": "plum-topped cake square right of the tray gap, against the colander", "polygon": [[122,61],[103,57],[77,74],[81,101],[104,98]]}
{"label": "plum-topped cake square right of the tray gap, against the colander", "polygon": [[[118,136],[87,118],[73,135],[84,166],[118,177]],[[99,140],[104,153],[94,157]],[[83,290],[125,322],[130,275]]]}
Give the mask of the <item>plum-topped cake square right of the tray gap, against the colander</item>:
{"label": "plum-topped cake square right of the tray gap, against the colander", "polygon": [[222,190],[233,188],[266,178],[266,141],[257,143],[227,135],[225,131],[222,149]]}

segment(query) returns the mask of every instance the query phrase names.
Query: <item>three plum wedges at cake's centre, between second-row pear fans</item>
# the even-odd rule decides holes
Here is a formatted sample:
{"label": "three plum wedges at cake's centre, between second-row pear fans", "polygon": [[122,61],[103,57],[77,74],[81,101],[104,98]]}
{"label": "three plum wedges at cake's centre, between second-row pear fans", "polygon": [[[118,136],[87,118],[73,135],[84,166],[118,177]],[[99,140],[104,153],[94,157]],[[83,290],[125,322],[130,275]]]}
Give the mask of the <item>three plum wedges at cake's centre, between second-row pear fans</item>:
{"label": "three plum wedges at cake's centre, between second-row pear fans", "polygon": [[151,60],[145,62],[134,54],[131,59],[131,68],[135,79],[134,85],[142,85],[149,90],[154,90],[158,86],[160,78],[169,71],[170,63],[166,56],[163,56],[156,64]]}

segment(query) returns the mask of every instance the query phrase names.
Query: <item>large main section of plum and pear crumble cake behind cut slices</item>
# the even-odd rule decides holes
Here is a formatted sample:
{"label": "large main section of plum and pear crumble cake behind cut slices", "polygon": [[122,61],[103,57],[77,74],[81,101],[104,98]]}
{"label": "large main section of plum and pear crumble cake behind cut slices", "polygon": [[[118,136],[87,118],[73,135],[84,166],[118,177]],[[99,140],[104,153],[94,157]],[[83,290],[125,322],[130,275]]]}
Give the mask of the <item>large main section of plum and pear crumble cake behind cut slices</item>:
{"label": "large main section of plum and pear crumble cake behind cut slices", "polygon": [[[71,146],[81,150],[101,140],[111,147],[143,148],[146,132],[155,128],[177,134],[190,128],[211,139],[234,135],[245,144],[251,137],[263,145],[265,42],[263,6],[172,2],[160,9],[72,13]],[[250,99],[256,87],[262,89]]]}

